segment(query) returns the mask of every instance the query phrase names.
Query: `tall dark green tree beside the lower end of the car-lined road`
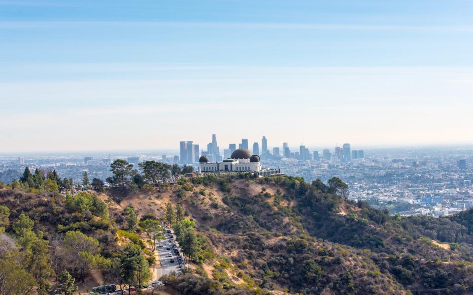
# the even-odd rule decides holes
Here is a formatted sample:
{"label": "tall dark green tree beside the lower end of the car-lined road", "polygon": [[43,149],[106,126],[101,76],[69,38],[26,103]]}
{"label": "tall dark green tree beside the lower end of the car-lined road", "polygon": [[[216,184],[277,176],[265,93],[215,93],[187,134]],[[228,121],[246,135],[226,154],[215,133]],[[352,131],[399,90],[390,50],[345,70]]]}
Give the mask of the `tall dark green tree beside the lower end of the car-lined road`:
{"label": "tall dark green tree beside the lower end of the car-lined road", "polygon": [[[135,286],[138,292],[150,277],[148,261],[141,250],[132,244],[127,244],[120,258],[120,275],[125,284]],[[130,288],[128,294],[131,294]]]}

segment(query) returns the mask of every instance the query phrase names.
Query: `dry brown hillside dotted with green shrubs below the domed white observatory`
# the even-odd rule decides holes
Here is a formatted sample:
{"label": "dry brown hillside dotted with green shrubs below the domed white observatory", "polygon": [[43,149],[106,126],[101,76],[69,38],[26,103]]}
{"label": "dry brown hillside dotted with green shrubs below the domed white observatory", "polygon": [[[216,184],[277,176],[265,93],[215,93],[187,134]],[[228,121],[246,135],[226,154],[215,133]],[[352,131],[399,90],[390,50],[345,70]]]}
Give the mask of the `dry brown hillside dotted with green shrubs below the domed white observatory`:
{"label": "dry brown hillside dotted with green shrubs below the domed white observatory", "polygon": [[[2,189],[0,206],[10,209],[9,234],[25,213],[50,247],[78,230],[98,240],[97,255],[112,260],[133,241],[120,234],[127,207],[138,218],[166,221],[169,202],[179,205],[200,242],[192,272],[163,278],[183,294],[473,294],[473,211],[439,219],[389,216],[344,199],[345,190],[337,179],[325,185],[242,174],[97,193],[106,218],[93,209],[72,212],[57,193]],[[137,234],[145,239],[139,228]],[[94,269],[104,280],[114,271],[106,264]]]}

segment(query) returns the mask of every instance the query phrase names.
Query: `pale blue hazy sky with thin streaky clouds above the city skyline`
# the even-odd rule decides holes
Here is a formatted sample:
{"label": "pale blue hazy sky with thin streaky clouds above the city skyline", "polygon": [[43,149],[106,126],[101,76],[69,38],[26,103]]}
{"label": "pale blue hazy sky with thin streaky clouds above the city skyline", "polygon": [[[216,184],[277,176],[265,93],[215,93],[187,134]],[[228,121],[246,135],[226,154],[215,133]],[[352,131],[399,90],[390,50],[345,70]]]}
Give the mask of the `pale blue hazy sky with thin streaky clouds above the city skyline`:
{"label": "pale blue hazy sky with thin streaky clouds above the city skyline", "polygon": [[0,0],[0,152],[473,143],[473,0]]}

